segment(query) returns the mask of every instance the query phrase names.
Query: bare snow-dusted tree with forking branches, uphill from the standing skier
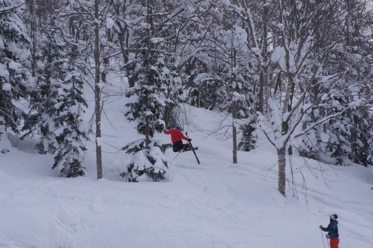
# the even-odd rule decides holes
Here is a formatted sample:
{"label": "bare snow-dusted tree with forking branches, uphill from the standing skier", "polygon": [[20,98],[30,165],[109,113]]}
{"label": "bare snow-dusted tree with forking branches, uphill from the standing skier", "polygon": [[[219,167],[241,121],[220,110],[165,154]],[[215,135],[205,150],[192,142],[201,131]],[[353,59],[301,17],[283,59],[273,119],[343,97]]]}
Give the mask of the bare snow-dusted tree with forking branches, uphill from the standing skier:
{"label": "bare snow-dusted tree with forking branches, uphill from the standing skier", "polygon": [[[276,96],[272,96],[267,101],[271,106],[268,115],[273,138],[263,130],[277,150],[278,190],[285,196],[286,150],[296,137],[305,133],[306,130],[299,130],[298,126],[301,126],[304,115],[316,106],[316,103],[307,102],[307,96],[315,86],[333,82],[338,77],[336,74],[328,75],[326,72],[323,74],[322,66],[329,52],[340,40],[341,34],[337,32],[336,27],[341,24],[343,12],[338,0],[328,3],[278,0],[276,8],[278,19],[274,24],[277,26],[279,46],[274,48],[271,59],[273,62],[278,62],[285,73],[285,96],[282,105],[276,103]],[[347,85],[345,87],[347,88]],[[293,102],[295,93],[296,101]],[[331,92],[326,95],[322,95],[323,92],[316,94],[319,98],[333,98]],[[341,115],[349,108],[349,106],[342,106],[339,111],[325,116],[314,125]]]}

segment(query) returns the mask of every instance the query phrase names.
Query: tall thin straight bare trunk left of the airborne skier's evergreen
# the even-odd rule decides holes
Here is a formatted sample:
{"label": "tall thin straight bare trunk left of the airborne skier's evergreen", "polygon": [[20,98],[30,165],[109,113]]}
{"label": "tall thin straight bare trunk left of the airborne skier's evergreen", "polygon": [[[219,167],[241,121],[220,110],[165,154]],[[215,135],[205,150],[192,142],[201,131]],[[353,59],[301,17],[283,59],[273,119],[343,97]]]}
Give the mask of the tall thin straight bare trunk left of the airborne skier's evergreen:
{"label": "tall thin straight bare trunk left of the airborne skier's evergreen", "polygon": [[[95,0],[95,18],[99,19],[99,0]],[[101,89],[100,83],[100,25],[96,22],[95,30],[95,115],[96,115],[96,165],[97,179],[102,178],[102,153],[101,153]],[[98,143],[99,140],[99,143]]]}

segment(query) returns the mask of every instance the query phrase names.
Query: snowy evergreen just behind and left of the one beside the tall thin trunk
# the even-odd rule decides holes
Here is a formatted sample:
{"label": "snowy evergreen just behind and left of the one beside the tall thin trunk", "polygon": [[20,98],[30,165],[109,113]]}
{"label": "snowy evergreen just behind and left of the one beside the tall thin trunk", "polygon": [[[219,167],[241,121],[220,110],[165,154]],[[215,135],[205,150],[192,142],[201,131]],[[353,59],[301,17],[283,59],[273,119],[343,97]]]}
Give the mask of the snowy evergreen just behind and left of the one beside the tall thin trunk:
{"label": "snowy evergreen just behind and left of the one beside the tall thin trunk", "polygon": [[[52,24],[53,20],[50,23]],[[56,30],[51,28],[43,41],[41,51],[37,85],[31,93],[30,114],[22,130],[28,130],[25,137],[32,133],[35,127],[40,128],[41,137],[36,147],[39,153],[45,154],[50,149],[53,153],[58,148],[54,134],[55,120],[59,116],[59,94],[65,75],[64,44],[57,39]]]}

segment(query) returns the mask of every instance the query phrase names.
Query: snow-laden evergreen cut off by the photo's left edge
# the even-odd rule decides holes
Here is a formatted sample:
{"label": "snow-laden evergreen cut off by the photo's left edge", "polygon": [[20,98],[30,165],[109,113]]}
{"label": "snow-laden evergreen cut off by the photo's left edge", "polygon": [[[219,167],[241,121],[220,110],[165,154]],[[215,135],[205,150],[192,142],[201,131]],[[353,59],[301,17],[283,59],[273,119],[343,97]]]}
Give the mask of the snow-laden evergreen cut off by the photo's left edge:
{"label": "snow-laden evergreen cut off by the photo's left edge", "polygon": [[25,56],[20,46],[29,42],[19,19],[20,10],[13,1],[0,0],[0,152],[11,144],[7,128],[18,133],[21,112],[13,103],[26,95]]}

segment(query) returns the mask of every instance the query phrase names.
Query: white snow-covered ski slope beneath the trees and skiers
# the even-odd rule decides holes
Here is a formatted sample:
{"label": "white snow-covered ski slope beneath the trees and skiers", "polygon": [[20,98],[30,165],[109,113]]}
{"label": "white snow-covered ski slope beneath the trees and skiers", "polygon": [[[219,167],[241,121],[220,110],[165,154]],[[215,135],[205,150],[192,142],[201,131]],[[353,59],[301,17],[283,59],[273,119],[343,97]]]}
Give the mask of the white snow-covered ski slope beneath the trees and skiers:
{"label": "white snow-covered ski slope beneath the trees and skiers", "polygon": [[[316,168],[310,170],[294,156],[293,170],[302,168],[295,174],[298,197],[291,184],[283,197],[277,156],[262,136],[257,150],[240,151],[232,164],[231,141],[207,137],[214,112],[186,106],[191,123],[184,131],[199,147],[201,164],[192,152],[181,153],[164,182],[126,183],[119,174],[130,156],[119,150],[142,137],[125,120],[123,103],[105,106],[100,180],[93,136],[86,175],[78,178],[57,177],[52,155],[36,153],[35,140],[10,137],[15,148],[0,154],[0,247],[328,247],[319,225],[326,227],[335,213],[339,247],[373,247],[373,167],[307,160]],[[155,139],[170,141],[165,134]],[[166,155],[172,161],[176,154]]]}

